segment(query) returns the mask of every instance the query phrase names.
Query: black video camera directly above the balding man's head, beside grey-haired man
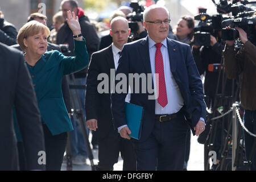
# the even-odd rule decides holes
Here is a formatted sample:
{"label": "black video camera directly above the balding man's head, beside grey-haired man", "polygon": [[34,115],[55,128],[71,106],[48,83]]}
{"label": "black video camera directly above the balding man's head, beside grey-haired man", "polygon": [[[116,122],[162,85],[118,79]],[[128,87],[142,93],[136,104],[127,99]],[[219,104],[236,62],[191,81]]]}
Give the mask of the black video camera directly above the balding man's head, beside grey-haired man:
{"label": "black video camera directly above the balding man's head, beside grey-haired man", "polygon": [[138,1],[132,1],[130,7],[133,8],[133,13],[126,16],[129,20],[129,28],[131,29],[130,39],[137,35],[139,29],[137,22],[143,22],[143,11],[144,7],[139,5]]}

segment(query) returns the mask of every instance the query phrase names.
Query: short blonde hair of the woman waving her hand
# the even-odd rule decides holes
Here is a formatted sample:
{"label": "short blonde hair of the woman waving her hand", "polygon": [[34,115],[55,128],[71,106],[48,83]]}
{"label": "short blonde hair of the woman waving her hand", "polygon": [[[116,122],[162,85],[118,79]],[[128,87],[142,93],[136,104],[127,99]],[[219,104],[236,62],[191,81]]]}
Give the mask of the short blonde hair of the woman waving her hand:
{"label": "short blonde hair of the woman waving her hand", "polygon": [[24,24],[23,27],[20,28],[17,35],[17,42],[22,49],[22,51],[26,51],[26,46],[23,43],[23,40],[28,38],[29,36],[33,36],[41,32],[47,37],[50,34],[49,28],[45,26],[43,23],[39,23],[36,20],[32,20]]}

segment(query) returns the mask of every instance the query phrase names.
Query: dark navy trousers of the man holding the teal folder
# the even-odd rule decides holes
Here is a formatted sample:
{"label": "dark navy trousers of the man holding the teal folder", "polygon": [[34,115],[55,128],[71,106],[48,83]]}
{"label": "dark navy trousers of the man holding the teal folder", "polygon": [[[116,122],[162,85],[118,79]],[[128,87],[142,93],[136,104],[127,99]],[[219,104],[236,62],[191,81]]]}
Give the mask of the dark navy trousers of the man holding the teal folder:
{"label": "dark navy trousers of the man holding the teal folder", "polygon": [[145,141],[132,140],[138,171],[181,171],[185,160],[188,125],[184,117],[155,121]]}

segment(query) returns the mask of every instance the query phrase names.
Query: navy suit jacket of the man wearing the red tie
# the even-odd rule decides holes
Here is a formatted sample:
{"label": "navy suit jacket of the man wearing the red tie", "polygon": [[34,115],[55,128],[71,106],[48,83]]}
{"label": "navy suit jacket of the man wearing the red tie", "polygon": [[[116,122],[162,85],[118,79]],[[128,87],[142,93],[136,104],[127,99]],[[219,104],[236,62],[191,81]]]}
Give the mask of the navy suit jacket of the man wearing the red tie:
{"label": "navy suit jacket of the man wearing the red tie", "polygon": [[[170,56],[170,67],[172,75],[179,86],[181,96],[184,99],[184,112],[188,124],[193,127],[199,121],[200,117],[205,119],[205,102],[203,94],[203,85],[196,68],[191,49],[187,44],[179,43],[176,40],[167,38],[168,53]],[[123,47],[119,65],[116,72],[124,73],[127,78],[129,73],[151,73],[150,55],[148,49],[148,38],[137,40],[136,42],[126,44]],[[115,81],[115,85],[119,80]],[[168,84],[168,83],[166,83]],[[142,90],[142,84],[139,84]],[[151,86],[151,85],[150,85]],[[133,88],[135,85],[133,86]],[[147,86],[148,87],[148,86]],[[151,88],[154,88],[154,85]],[[127,86],[128,88],[128,86]],[[155,122],[155,100],[148,100],[148,93],[137,93],[131,90],[131,100],[133,104],[144,107],[142,118],[141,141],[145,140],[151,133]],[[112,114],[115,128],[125,125],[125,93],[113,93]]]}

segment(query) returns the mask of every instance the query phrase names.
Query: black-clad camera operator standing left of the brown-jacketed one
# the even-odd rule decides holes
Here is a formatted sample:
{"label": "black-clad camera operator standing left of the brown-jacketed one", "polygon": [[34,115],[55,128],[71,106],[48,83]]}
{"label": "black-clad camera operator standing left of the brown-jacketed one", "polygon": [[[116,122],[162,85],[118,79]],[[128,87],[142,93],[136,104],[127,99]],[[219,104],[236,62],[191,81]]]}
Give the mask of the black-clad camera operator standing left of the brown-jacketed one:
{"label": "black-clad camera operator standing left of the brown-jacketed one", "polygon": [[[197,69],[200,75],[205,72],[204,81],[204,94],[208,97],[207,107],[216,107],[214,102],[217,104],[217,94],[222,96],[232,96],[232,80],[225,77],[224,72],[221,72],[222,67],[222,50],[224,49],[224,42],[221,41],[221,31],[214,30],[212,35],[210,35],[210,46],[192,46],[192,53],[197,65]],[[215,35],[215,36],[213,36]],[[220,69],[217,71],[210,70],[209,65],[218,64]],[[221,73],[220,73],[221,72]],[[222,101],[220,101],[222,102]],[[221,106],[221,105],[218,105]],[[215,108],[213,108],[214,110]],[[210,123],[207,123],[208,125]],[[213,141],[212,150],[217,153],[217,164],[221,159],[221,123],[218,122],[216,126],[216,137]],[[212,166],[212,170],[215,170],[217,164]]]}

